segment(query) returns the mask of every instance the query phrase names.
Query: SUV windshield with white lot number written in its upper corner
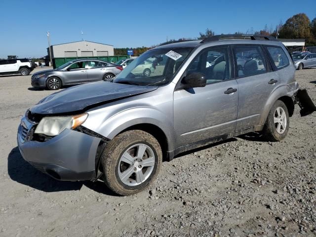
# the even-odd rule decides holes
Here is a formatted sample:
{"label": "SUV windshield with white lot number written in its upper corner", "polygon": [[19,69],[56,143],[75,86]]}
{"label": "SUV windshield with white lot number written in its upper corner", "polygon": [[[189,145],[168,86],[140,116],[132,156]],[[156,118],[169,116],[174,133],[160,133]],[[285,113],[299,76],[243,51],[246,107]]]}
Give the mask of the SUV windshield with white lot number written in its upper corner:
{"label": "SUV windshield with white lot number written in its upper corner", "polygon": [[178,71],[193,48],[161,48],[143,53],[114,79],[115,83],[132,85],[166,85]]}

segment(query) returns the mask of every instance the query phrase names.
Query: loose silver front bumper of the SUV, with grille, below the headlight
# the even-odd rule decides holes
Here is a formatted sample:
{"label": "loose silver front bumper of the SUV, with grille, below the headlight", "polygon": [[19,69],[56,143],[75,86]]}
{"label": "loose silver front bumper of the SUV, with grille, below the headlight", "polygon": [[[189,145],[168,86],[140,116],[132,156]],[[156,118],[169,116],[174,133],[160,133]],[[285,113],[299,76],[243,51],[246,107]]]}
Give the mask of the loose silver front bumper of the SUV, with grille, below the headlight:
{"label": "loose silver front bumper of the SUV, with grille, below the headlight", "polygon": [[22,157],[40,171],[58,180],[96,178],[96,155],[101,138],[65,129],[45,142],[32,140],[35,124],[22,118],[17,143]]}

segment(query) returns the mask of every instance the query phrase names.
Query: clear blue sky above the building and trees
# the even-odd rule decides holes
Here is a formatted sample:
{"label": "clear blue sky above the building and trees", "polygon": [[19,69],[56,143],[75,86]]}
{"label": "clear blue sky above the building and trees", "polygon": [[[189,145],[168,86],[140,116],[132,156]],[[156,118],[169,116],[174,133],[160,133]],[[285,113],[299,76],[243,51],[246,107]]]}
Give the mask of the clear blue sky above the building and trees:
{"label": "clear blue sky above the building and trees", "polygon": [[46,31],[52,44],[83,38],[141,47],[196,38],[206,28],[249,33],[300,12],[316,17],[316,0],[0,0],[0,58],[46,55]]}

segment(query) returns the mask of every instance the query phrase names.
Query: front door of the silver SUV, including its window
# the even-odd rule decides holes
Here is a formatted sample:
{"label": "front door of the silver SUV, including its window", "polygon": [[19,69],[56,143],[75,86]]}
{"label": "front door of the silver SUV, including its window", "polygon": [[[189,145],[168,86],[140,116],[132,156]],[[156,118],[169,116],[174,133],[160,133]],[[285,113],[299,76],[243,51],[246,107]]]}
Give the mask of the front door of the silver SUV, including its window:
{"label": "front door of the silver SUV, including its window", "polygon": [[235,132],[238,91],[231,71],[228,46],[203,49],[192,61],[184,76],[202,73],[207,84],[174,92],[177,147]]}

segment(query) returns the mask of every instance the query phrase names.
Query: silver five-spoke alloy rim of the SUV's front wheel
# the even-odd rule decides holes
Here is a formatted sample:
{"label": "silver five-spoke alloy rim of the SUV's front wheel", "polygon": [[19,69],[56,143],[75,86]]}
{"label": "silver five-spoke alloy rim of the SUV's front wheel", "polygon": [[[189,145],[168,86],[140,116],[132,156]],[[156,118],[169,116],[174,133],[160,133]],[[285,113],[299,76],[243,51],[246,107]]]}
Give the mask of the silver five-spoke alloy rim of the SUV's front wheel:
{"label": "silver five-spoke alloy rim of the SUV's front wheel", "polygon": [[144,183],[152,174],[155,166],[155,153],[145,144],[128,148],[118,163],[118,177],[127,186]]}

